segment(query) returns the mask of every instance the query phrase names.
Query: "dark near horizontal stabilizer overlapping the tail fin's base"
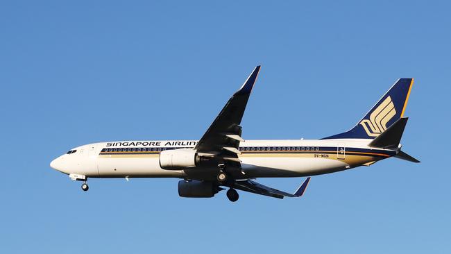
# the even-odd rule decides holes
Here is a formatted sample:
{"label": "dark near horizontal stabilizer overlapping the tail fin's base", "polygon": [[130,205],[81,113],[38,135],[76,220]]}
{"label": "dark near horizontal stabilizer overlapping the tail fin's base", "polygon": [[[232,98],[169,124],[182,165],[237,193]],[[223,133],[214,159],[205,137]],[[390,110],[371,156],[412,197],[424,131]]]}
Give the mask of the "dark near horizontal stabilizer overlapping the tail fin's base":
{"label": "dark near horizontal stabilizer overlapping the tail fin's base", "polygon": [[404,128],[406,127],[408,119],[409,118],[407,117],[402,117],[395,121],[395,123],[384,130],[383,133],[375,137],[375,139],[373,139],[373,141],[368,144],[368,146],[382,149],[398,148],[401,142],[402,133],[404,132]]}

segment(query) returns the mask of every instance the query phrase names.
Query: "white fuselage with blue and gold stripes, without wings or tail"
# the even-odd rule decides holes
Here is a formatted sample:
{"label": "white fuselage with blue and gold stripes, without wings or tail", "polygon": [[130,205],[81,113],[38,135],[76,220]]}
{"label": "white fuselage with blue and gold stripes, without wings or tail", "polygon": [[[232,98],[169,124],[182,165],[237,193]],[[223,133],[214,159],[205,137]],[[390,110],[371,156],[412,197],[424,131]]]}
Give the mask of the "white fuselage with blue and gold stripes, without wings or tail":
{"label": "white fuselage with blue and gold stripes, without wings or tail", "polygon": [[[370,165],[395,155],[396,151],[374,149],[371,139],[246,140],[241,142],[239,160],[243,178],[297,177],[332,173]],[[197,141],[103,142],[78,146],[61,155],[51,167],[87,178],[191,178],[203,179],[216,171],[166,170],[160,167],[160,151],[193,149]]]}

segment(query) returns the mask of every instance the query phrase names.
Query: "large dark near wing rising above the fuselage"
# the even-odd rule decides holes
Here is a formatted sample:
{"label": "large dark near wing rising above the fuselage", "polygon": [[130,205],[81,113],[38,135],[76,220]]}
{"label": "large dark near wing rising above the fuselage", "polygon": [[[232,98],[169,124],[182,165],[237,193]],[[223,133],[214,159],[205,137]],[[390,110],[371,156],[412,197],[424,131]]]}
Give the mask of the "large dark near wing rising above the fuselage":
{"label": "large dark near wing rising above the fuselage", "polygon": [[241,119],[248,103],[250,92],[257,80],[260,66],[255,67],[246,82],[233,94],[210,128],[199,140],[196,149],[198,155],[218,160],[218,163],[238,168],[241,171],[239,142],[241,138]]}

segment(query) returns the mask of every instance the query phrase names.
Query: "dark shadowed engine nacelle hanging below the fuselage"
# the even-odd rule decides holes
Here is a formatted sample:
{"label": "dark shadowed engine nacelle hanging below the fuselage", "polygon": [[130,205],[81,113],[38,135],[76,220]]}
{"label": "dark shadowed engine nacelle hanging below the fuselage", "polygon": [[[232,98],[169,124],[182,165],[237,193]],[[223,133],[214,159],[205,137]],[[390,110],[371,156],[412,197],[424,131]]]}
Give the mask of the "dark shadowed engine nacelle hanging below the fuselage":
{"label": "dark shadowed engine nacelle hanging below the fuselage", "polygon": [[178,181],[178,195],[185,198],[211,198],[219,192],[219,188],[212,182],[198,180]]}

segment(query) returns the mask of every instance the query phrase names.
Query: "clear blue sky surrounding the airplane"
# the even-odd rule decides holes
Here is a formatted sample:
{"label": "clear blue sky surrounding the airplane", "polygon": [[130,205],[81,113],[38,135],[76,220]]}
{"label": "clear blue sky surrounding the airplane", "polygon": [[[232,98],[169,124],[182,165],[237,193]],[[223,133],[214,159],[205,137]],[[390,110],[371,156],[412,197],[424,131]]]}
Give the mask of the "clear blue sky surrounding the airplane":
{"label": "clear blue sky surrounding the airplane", "polygon": [[[450,253],[447,1],[2,1],[0,253]],[[184,199],[176,179],[49,167],[74,146],[198,139],[255,65],[246,139],[348,130],[413,77],[384,160],[302,199]],[[301,178],[259,179],[292,192]]]}

